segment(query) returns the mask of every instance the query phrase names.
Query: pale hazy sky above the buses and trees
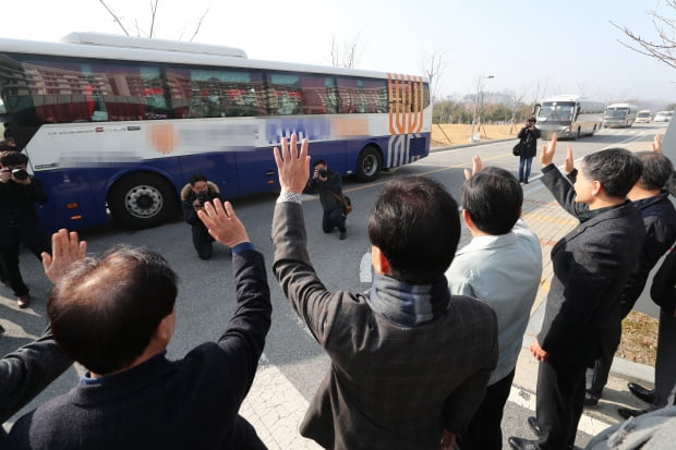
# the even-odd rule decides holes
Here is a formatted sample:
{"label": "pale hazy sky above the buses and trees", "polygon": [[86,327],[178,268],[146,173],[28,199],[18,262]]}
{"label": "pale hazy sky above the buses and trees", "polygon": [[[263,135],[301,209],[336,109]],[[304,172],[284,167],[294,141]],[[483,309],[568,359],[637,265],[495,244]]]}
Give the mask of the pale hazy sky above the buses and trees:
{"label": "pale hazy sky above the buses and trees", "polygon": [[[150,0],[106,3],[131,35],[147,36]],[[676,70],[623,46],[631,40],[611,23],[655,38],[653,10],[676,19],[665,0],[159,0],[154,35],[190,40],[206,12],[193,41],[252,59],[330,65],[334,41],[357,42],[358,69],[424,74],[440,56],[437,99],[472,94],[481,80],[527,102],[581,94],[665,106],[676,102]],[[3,19],[8,38],[123,33],[98,0],[21,0]]]}

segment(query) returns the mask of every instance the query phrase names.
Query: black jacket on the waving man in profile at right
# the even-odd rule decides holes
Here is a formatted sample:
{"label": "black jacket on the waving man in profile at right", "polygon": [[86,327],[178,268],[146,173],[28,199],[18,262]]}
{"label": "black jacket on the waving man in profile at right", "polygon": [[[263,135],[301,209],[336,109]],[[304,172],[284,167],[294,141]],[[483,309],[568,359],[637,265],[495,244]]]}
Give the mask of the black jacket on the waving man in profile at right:
{"label": "black jacket on the waving man in profile at right", "polygon": [[[575,190],[554,166],[542,182],[557,202],[579,217]],[[611,330],[620,326],[619,299],[636,268],[644,227],[629,200],[578,224],[552,250],[554,278],[538,340],[550,358],[593,365]]]}

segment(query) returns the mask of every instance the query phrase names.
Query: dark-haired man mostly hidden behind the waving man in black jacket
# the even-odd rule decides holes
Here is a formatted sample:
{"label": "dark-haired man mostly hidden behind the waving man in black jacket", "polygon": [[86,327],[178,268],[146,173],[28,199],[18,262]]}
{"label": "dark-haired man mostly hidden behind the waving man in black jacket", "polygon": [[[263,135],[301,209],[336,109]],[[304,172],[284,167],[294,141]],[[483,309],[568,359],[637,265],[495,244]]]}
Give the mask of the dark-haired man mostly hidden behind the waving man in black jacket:
{"label": "dark-haired man mostly hidden behind the waving man in black jacket", "polygon": [[[672,178],[674,166],[660,151],[639,151],[637,156],[643,163],[643,172],[639,181],[627,194],[627,197],[641,212],[645,238],[643,239],[638,269],[629,277],[619,299],[620,317],[623,319],[631,312],[636,301],[641,295],[650,270],[674,243],[674,240],[676,240],[676,209],[668,198],[668,192],[664,190],[664,186]],[[570,157],[571,160],[572,157]],[[566,162],[568,165],[568,158]],[[570,169],[568,171],[572,175],[577,172],[571,167],[566,169]],[[594,367],[587,370],[586,405],[599,403],[603,388],[607,382],[611,365],[613,364],[613,355],[617,351],[621,338],[621,329],[617,328],[615,331],[615,335],[609,336],[608,346],[601,349]],[[636,384],[630,384],[630,389],[633,387],[633,390],[640,391],[640,389],[637,389],[637,386]],[[666,397],[669,391],[671,389],[665,392],[664,399],[661,399],[661,402],[663,402],[662,406],[666,404]],[[632,410],[623,409],[623,412],[626,411],[633,412]]]}

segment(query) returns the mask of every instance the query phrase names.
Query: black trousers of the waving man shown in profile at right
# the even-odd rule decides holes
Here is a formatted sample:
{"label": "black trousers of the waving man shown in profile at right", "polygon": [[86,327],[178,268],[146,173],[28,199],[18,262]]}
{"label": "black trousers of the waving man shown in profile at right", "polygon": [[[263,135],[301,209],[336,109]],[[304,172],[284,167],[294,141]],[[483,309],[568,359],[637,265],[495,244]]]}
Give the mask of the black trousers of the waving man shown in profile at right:
{"label": "black trousers of the waving man shown in profile at right", "polygon": [[535,416],[542,436],[542,450],[572,449],[578,423],[584,408],[583,364],[560,361],[540,363]]}

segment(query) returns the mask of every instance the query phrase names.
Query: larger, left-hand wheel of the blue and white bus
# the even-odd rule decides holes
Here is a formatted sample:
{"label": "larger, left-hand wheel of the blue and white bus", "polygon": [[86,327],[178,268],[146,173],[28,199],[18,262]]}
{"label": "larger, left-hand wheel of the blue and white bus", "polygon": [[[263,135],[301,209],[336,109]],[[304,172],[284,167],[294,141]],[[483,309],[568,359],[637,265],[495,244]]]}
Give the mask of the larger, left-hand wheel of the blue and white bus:
{"label": "larger, left-hand wheel of the blue and white bus", "polygon": [[133,173],[113,184],[108,207],[122,227],[157,227],[178,212],[177,193],[171,183],[157,174]]}

